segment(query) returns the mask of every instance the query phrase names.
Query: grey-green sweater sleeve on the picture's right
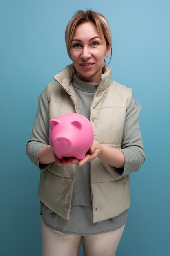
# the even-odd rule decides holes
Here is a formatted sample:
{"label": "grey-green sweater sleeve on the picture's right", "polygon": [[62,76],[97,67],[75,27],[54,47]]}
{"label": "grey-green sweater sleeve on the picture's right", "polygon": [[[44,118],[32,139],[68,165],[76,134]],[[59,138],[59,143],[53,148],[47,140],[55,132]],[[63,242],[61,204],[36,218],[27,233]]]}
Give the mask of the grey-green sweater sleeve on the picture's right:
{"label": "grey-green sweater sleeve on the picture's right", "polygon": [[126,112],[124,135],[120,149],[125,157],[124,169],[115,169],[120,176],[139,171],[145,161],[144,147],[139,127],[140,112],[141,105],[132,96]]}

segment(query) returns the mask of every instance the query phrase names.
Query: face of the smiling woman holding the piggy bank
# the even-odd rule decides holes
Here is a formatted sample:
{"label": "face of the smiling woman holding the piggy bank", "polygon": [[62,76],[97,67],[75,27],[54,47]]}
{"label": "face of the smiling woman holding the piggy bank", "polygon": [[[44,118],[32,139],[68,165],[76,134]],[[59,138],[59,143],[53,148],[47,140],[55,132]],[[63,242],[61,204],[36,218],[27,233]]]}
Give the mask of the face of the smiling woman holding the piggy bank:
{"label": "face of the smiling woman holding the piggy bank", "polygon": [[102,75],[104,58],[108,57],[111,47],[106,47],[95,24],[86,22],[79,24],[73,36],[70,58],[79,79],[99,83]]}

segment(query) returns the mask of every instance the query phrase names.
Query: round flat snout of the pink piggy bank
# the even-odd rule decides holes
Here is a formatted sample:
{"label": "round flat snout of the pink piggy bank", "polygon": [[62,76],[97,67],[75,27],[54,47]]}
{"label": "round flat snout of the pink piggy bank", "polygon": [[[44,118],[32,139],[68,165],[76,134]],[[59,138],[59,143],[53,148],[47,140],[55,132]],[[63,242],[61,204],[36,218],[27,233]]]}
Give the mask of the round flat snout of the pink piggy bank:
{"label": "round flat snout of the pink piggy bank", "polygon": [[72,143],[69,139],[64,137],[59,137],[55,139],[54,146],[57,151],[62,154],[68,154],[72,150]]}

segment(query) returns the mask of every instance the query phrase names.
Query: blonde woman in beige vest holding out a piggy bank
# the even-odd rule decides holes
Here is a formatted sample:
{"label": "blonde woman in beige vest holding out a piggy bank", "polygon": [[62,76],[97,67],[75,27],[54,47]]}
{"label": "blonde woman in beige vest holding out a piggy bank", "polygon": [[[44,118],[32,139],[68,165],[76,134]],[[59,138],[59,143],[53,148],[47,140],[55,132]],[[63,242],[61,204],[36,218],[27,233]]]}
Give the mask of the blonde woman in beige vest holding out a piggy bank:
{"label": "blonde woman in beige vest holding out a piggy bank", "polygon": [[[73,64],[54,76],[39,97],[26,153],[41,170],[42,255],[113,256],[130,206],[129,173],[145,154],[139,130],[141,106],[132,90],[111,78],[111,32],[99,13],[78,11],[65,32]],[[81,161],[51,150],[49,120],[68,112],[86,116],[94,141]]]}

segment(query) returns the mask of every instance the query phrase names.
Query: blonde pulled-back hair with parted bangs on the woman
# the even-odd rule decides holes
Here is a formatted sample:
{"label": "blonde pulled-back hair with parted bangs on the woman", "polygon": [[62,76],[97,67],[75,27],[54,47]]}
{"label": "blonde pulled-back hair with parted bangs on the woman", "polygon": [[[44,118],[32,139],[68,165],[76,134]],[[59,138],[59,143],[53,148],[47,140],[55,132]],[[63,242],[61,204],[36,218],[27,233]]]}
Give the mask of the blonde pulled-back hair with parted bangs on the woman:
{"label": "blonde pulled-back hair with parted bangs on the woman", "polygon": [[103,42],[106,42],[106,45],[110,47],[112,46],[112,35],[110,31],[110,27],[108,25],[108,21],[106,18],[95,11],[87,10],[87,11],[77,11],[75,15],[71,18],[66,26],[65,31],[65,41],[68,55],[70,55],[71,42],[73,39],[73,35],[76,27],[85,22],[93,22],[97,28],[99,36]]}

